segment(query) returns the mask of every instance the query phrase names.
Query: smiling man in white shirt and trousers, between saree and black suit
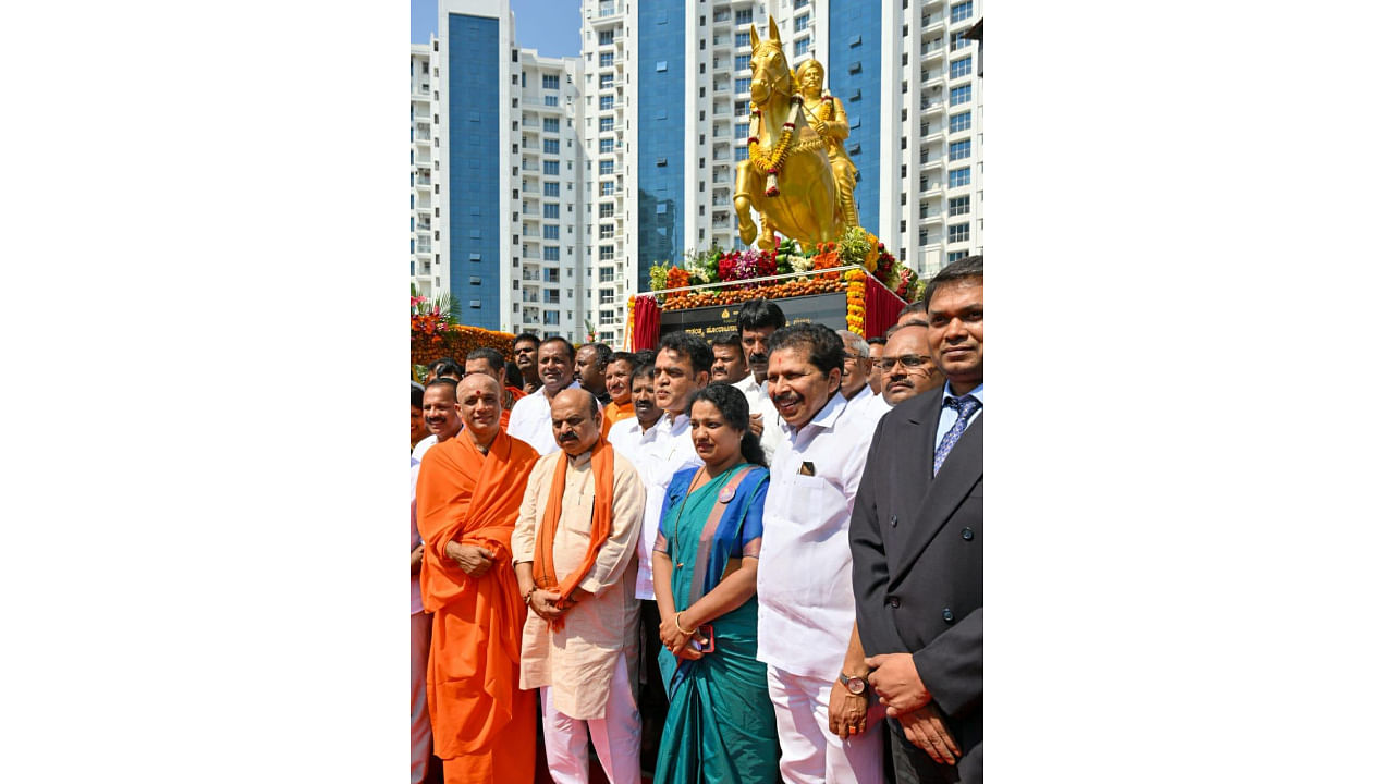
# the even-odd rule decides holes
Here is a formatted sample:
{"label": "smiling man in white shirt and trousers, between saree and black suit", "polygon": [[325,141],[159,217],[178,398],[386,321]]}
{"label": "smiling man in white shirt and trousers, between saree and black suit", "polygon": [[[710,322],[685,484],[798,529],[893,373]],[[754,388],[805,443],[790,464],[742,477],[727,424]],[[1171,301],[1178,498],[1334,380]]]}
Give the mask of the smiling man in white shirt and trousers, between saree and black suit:
{"label": "smiling man in white shirt and trousers, between saree and black suit", "polygon": [[880,783],[881,724],[856,628],[848,526],[874,428],[848,409],[842,339],[797,324],[769,340],[783,431],[769,467],[756,596],[758,653],[790,783]]}

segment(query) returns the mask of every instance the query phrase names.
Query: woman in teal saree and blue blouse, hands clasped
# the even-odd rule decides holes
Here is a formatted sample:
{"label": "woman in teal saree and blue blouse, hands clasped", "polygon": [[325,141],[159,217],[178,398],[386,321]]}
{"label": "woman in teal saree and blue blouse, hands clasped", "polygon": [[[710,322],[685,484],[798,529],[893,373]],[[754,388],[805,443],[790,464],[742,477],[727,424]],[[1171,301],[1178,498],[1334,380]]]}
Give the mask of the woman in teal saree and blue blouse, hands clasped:
{"label": "woman in teal saree and blue blouse, hands clasped", "polygon": [[668,721],[657,784],[779,781],[765,665],[756,660],[756,569],[769,472],[746,396],[693,398],[700,469],[673,474],[654,545]]}

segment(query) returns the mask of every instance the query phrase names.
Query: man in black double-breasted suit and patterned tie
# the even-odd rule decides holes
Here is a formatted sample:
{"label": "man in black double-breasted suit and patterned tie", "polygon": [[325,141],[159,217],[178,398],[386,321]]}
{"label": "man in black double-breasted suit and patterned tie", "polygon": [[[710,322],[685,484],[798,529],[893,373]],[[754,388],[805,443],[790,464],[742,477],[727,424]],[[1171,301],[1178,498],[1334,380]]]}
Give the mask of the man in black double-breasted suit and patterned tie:
{"label": "man in black double-breasted suit and patterned tie", "polygon": [[902,784],[959,781],[965,753],[981,770],[983,742],[983,257],[945,266],[924,301],[948,382],[881,417],[849,530]]}

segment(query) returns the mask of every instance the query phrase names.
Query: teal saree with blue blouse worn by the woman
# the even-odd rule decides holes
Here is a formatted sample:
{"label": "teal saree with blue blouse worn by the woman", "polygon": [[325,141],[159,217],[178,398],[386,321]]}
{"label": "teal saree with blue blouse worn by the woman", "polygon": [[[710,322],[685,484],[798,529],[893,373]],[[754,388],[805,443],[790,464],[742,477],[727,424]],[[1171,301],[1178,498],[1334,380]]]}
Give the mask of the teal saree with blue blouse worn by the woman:
{"label": "teal saree with blue blouse worn by the woman", "polygon": [[[764,534],[768,470],[742,463],[689,495],[697,470],[673,476],[654,545],[672,559],[677,611],[714,589],[730,558],[758,557]],[[657,784],[779,781],[775,713],[765,665],[756,660],[756,607],[751,596],[712,619],[717,650],[696,661],[658,651],[669,709]]]}

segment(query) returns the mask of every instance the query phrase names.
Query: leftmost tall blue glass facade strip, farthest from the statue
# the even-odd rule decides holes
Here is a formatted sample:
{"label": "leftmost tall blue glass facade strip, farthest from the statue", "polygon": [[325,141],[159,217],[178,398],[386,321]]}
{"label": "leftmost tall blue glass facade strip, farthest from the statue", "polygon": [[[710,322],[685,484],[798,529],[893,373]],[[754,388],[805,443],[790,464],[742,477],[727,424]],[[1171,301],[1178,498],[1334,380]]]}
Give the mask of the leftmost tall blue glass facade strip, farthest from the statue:
{"label": "leftmost tall blue glass facade strip, farthest from the statue", "polygon": [[507,262],[499,258],[499,20],[450,14],[449,22],[450,294],[460,324],[498,329]]}

